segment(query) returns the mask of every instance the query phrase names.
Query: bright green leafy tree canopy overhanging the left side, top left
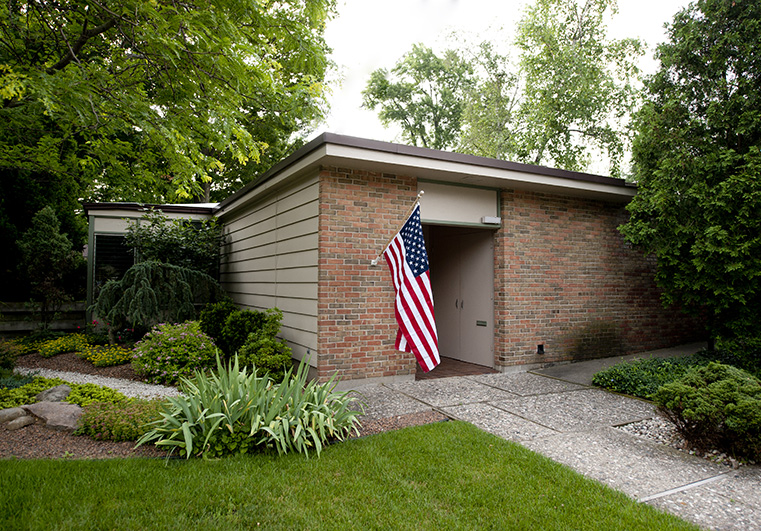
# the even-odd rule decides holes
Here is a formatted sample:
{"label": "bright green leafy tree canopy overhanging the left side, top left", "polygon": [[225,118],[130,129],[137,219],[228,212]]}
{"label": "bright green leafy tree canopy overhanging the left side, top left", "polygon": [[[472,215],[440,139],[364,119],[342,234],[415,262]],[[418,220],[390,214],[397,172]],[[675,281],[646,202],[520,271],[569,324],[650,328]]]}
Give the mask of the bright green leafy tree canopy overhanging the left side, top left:
{"label": "bright green leafy tree canopy overhanging the left side, top left", "polygon": [[74,176],[78,197],[98,200],[190,198],[235,179],[267,148],[254,132],[269,123],[290,136],[320,115],[333,9],[5,2],[0,169]]}

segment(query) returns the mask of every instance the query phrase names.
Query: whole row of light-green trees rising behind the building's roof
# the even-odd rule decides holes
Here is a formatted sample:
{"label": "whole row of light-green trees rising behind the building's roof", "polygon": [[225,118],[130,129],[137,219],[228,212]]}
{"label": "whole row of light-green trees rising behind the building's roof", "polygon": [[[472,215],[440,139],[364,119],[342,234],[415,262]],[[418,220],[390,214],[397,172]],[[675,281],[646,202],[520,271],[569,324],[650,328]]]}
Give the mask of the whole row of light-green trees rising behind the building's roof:
{"label": "whole row of light-green trees rising behind the building's roof", "polygon": [[517,26],[517,62],[486,41],[441,57],[415,45],[371,74],[364,106],[414,145],[576,171],[595,150],[621,176],[644,49],[608,38],[615,11],[615,0],[536,0]]}

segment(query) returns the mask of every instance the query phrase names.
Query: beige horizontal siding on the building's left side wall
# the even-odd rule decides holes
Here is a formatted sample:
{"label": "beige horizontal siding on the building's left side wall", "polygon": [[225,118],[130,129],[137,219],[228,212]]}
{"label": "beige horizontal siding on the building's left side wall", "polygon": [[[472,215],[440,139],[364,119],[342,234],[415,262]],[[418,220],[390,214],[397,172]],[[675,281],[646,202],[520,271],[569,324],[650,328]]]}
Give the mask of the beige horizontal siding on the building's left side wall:
{"label": "beige horizontal siding on the building's left side wall", "polygon": [[283,312],[280,336],[316,366],[319,182],[308,178],[226,214],[220,282],[241,307]]}

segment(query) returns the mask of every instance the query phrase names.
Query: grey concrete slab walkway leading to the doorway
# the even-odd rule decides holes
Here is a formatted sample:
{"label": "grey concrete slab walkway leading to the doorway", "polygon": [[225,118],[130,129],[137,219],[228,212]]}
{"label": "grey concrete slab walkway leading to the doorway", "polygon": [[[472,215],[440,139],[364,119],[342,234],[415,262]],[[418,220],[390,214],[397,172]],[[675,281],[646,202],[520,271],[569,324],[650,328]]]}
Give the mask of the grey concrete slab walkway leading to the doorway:
{"label": "grey concrete slab walkway leading to the doorway", "polygon": [[733,470],[616,429],[656,415],[649,402],[589,387],[594,372],[618,361],[358,390],[368,420],[434,409],[702,527],[761,530],[761,467]]}

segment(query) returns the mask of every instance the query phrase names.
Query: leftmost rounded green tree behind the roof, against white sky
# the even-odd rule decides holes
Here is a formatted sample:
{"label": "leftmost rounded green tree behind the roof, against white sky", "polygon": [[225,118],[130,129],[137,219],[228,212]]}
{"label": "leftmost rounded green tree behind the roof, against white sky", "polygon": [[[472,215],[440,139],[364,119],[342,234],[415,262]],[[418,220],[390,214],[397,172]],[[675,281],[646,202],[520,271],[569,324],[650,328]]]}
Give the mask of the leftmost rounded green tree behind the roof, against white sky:
{"label": "leftmost rounded green tree behind the roof, against white sky", "polygon": [[415,146],[447,149],[460,134],[463,89],[471,68],[454,50],[443,57],[416,44],[389,72],[374,71],[362,92],[363,106],[380,107],[378,117],[388,126],[398,123],[402,137]]}

